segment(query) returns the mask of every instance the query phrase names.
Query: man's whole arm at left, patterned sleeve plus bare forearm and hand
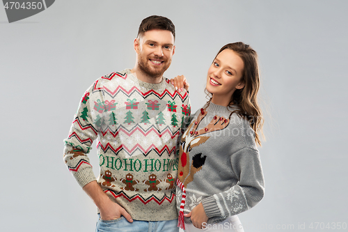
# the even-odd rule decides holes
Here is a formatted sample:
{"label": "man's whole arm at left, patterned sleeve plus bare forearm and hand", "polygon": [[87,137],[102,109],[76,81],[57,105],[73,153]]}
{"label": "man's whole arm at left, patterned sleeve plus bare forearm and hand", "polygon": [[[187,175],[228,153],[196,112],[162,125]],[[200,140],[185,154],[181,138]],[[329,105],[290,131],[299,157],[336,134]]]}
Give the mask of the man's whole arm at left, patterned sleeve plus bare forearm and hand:
{"label": "man's whole arm at left, patterned sleeve plus bare forearm and hand", "polygon": [[[76,178],[83,190],[93,199],[100,210],[100,217],[103,220],[111,220],[123,215],[129,222],[133,222],[127,211],[109,199],[109,196],[97,183],[90,165],[88,153],[93,141],[97,138],[98,127],[102,120],[93,117],[91,111],[95,102],[102,102],[100,94],[93,94],[93,85],[88,88],[81,99],[77,114],[70,128],[69,136],[65,139],[64,160],[68,169]],[[99,100],[99,101],[98,101]],[[97,115],[99,116],[99,115]]]}

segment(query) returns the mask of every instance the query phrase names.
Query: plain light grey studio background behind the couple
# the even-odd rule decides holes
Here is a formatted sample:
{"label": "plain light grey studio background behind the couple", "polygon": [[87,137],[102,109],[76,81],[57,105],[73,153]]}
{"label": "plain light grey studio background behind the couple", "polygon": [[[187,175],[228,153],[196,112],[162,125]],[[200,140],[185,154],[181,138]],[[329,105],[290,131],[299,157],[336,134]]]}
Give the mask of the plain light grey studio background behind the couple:
{"label": "plain light grey studio background behind the couple", "polygon": [[[95,230],[95,206],[65,167],[63,139],[86,88],[134,66],[137,29],[154,14],[176,26],[165,76],[187,76],[193,111],[205,102],[207,69],[220,47],[244,41],[258,51],[266,195],[239,215],[245,231],[329,231],[320,229],[328,223],[335,231],[335,223],[348,223],[347,7],[60,0],[12,24],[1,8],[1,231]],[[90,157],[97,173],[95,145]],[[312,222],[322,224],[310,229]]]}

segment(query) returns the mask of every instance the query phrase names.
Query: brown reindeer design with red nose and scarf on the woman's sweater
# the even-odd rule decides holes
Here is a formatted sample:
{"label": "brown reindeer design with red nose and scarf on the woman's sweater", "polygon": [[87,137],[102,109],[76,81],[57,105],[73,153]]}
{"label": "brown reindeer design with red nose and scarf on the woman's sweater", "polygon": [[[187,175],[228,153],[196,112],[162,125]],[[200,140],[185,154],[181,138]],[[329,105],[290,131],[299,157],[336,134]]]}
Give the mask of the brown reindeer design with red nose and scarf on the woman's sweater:
{"label": "brown reindeer design with red nose and scarf on the woman's sweater", "polygon": [[182,139],[180,141],[180,157],[179,164],[177,167],[177,186],[182,190],[182,201],[180,204],[179,212],[179,226],[184,229],[184,205],[186,199],[186,187],[193,180],[193,175],[200,171],[205,164],[207,155],[202,153],[197,153],[192,156],[192,161],[189,163],[189,152],[192,148],[204,144],[210,137],[201,136],[208,132],[214,132],[216,130],[223,130],[228,126],[230,120],[228,118],[214,116],[210,123],[196,131],[200,121],[207,116],[207,111],[205,109],[200,109],[200,114],[198,115],[196,121],[193,121],[186,132],[182,134]]}

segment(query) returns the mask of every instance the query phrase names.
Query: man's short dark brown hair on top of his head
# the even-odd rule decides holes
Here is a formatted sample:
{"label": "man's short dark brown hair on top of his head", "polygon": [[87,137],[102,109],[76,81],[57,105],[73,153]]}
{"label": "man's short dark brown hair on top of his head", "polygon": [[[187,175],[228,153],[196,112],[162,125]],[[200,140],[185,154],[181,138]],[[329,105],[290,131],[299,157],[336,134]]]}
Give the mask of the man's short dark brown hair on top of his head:
{"label": "man's short dark brown hair on top of his head", "polygon": [[169,20],[167,17],[158,15],[152,15],[143,19],[139,26],[138,38],[143,36],[143,33],[145,33],[146,31],[154,29],[171,31],[175,40],[175,26],[173,22],[171,22],[171,20]]}

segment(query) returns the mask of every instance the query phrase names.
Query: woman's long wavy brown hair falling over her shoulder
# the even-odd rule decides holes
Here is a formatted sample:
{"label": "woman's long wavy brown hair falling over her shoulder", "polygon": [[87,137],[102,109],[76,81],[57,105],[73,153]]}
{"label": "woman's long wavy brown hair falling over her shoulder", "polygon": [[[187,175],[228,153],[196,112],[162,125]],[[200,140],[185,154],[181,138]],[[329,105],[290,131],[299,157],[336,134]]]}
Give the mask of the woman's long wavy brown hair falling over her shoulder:
{"label": "woman's long wavy brown hair falling over her shoulder", "polygon": [[[231,49],[236,52],[244,62],[244,71],[241,79],[244,83],[244,88],[236,89],[233,93],[229,106],[234,105],[237,109],[232,111],[230,116],[233,113],[237,113],[241,118],[246,119],[255,132],[255,142],[261,145],[260,135],[263,137],[262,126],[264,121],[257,99],[260,88],[258,54],[244,42],[233,42],[221,47],[216,56],[225,49]],[[212,100],[212,94],[208,93],[208,95],[210,99],[207,105]]]}

